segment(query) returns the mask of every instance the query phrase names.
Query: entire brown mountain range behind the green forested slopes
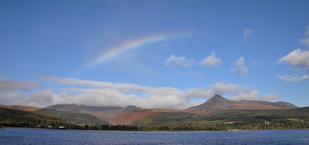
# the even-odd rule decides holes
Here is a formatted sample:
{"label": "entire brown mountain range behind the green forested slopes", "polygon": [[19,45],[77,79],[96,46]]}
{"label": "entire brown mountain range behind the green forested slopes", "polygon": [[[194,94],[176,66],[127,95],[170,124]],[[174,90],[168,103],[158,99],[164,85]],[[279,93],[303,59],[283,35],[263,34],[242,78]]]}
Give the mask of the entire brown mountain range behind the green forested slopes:
{"label": "entire brown mountain range behind the green forested slopes", "polygon": [[[26,109],[27,107],[18,106],[17,108]],[[109,122],[112,125],[116,125],[116,124],[130,124],[133,121],[135,122],[144,121],[145,123],[145,120],[141,120],[141,118],[148,118],[153,114],[160,114],[164,112],[173,115],[189,113],[194,114],[193,117],[199,117],[201,115],[212,113],[216,110],[229,110],[229,109],[258,110],[258,109],[288,109],[288,108],[298,108],[298,107],[288,102],[281,102],[281,101],[267,102],[257,100],[232,101],[220,95],[215,95],[214,97],[210,98],[201,105],[192,106],[185,110],[142,109],[136,106],[127,106],[125,108],[112,107],[112,106],[96,107],[96,106],[83,106],[76,104],[52,105],[47,106],[44,109],[91,114],[101,120]],[[41,108],[28,108],[28,109],[37,110]],[[148,118],[148,122],[151,119],[153,120],[154,118]],[[155,119],[157,119],[157,117]]]}

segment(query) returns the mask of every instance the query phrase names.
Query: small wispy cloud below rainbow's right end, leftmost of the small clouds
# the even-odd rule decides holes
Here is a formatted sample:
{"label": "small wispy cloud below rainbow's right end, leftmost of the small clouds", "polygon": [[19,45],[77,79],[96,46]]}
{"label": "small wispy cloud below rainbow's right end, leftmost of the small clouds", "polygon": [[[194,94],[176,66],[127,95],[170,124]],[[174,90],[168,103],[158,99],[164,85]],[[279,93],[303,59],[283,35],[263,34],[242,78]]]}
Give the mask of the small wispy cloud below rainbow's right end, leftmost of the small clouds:
{"label": "small wispy cloud below rainbow's right end, leftmost of the small clouds", "polygon": [[181,65],[184,67],[189,67],[194,63],[194,60],[188,60],[186,57],[176,57],[175,55],[171,55],[171,57],[164,60],[164,65]]}

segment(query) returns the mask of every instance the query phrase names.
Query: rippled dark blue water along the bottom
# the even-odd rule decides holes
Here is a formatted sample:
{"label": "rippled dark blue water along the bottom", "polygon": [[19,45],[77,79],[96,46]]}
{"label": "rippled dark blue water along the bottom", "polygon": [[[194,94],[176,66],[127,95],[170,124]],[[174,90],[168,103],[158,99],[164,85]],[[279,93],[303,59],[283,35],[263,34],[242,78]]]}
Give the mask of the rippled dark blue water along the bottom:
{"label": "rippled dark blue water along the bottom", "polygon": [[0,144],[309,144],[309,130],[73,131],[6,128]]}

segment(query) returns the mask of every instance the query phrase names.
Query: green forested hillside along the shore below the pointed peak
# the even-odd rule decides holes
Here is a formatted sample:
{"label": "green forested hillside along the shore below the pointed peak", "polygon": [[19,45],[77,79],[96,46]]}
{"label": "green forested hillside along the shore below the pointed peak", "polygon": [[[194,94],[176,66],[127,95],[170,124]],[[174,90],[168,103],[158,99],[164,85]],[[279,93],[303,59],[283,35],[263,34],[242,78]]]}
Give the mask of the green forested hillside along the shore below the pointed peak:
{"label": "green forested hillside along the shore below the pointed peak", "polygon": [[195,118],[189,113],[157,113],[130,125],[144,131],[207,131],[309,128],[309,107],[218,110]]}

